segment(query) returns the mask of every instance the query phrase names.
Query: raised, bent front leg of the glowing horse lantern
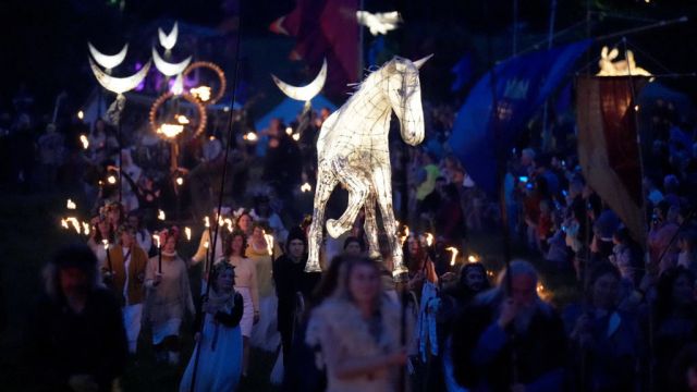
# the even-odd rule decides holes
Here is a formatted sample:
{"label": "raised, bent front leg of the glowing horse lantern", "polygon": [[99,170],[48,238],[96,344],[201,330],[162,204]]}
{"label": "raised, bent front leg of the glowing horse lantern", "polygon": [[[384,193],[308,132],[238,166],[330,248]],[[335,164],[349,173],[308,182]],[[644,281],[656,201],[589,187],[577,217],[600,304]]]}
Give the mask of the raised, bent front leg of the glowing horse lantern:
{"label": "raised, bent front leg of the glowing horse lantern", "polygon": [[370,193],[370,183],[360,170],[351,168],[345,161],[338,161],[332,164],[339,181],[348,188],[348,207],[337,220],[327,220],[327,232],[334,238],[351,229],[358,216],[360,207],[366,203]]}

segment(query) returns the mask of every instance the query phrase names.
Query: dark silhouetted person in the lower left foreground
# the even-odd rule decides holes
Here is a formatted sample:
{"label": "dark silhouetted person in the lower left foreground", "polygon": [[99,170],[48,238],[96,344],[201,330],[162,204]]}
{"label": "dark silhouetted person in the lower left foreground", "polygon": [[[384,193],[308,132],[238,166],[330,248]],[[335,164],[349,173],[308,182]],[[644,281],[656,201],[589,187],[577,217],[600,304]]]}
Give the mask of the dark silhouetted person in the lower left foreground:
{"label": "dark silhouetted person in the lower left foreground", "polygon": [[44,285],[27,336],[38,390],[111,391],[129,351],[119,303],[98,285],[95,254],[85,245],[59,250]]}

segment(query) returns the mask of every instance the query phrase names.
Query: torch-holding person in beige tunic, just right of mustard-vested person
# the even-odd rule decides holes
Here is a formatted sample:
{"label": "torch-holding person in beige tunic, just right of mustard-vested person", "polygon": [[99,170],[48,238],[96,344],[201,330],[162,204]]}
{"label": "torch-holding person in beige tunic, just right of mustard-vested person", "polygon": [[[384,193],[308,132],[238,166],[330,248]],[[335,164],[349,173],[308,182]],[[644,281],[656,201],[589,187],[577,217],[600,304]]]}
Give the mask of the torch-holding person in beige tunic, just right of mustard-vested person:
{"label": "torch-holding person in beige tunic, just right of mustard-vested person", "polygon": [[[152,327],[152,344],[159,362],[179,364],[180,327],[186,313],[194,315],[186,264],[176,254],[179,230],[160,232],[162,260],[150,258],[145,274],[146,320]],[[161,268],[160,268],[161,266]]]}

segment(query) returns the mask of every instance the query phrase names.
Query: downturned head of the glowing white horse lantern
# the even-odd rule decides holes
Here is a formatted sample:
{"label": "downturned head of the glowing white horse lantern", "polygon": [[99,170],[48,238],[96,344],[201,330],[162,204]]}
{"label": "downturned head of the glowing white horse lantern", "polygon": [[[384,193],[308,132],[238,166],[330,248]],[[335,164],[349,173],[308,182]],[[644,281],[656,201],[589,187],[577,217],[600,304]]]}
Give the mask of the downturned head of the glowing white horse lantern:
{"label": "downturned head of the glowing white horse lantern", "polygon": [[400,120],[402,138],[412,146],[424,140],[424,109],[418,70],[432,56],[417,61],[394,57],[384,68],[386,94]]}

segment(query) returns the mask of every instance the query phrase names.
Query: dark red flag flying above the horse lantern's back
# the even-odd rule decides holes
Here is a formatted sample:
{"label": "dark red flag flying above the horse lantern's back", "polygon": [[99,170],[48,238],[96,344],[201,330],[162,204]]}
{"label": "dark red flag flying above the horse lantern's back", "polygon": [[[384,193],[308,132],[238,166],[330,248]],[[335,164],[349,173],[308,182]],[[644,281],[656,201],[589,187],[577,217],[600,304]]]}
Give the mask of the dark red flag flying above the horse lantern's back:
{"label": "dark red flag flying above the horse lantern's back", "polygon": [[296,38],[291,60],[319,69],[327,58],[326,91],[334,97],[351,91],[358,79],[358,0],[297,0],[295,9],[269,26]]}

